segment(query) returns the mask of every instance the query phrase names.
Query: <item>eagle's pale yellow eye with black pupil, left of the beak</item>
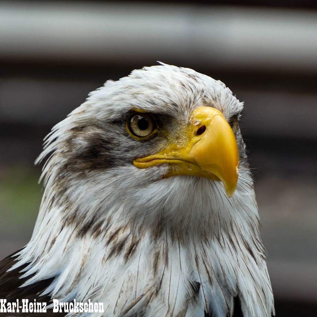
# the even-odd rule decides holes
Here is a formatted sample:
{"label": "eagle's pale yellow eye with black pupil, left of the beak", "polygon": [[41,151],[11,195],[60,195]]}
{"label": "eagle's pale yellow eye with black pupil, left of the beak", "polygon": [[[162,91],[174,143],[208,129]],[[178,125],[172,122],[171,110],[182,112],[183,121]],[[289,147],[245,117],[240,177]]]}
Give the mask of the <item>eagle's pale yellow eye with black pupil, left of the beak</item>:
{"label": "eagle's pale yellow eye with black pupil, left of the beak", "polygon": [[147,113],[134,113],[127,121],[128,132],[132,136],[144,138],[155,129],[155,121]]}

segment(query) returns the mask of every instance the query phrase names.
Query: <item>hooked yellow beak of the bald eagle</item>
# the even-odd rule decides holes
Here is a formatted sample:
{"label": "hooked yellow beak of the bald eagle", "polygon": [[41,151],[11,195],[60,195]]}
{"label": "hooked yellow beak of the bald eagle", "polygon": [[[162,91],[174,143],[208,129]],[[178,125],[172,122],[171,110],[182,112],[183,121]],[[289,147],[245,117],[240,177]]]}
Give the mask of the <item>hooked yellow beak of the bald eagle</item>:
{"label": "hooked yellow beak of the bald eagle", "polygon": [[222,181],[232,197],[238,181],[239,152],[235,135],[223,114],[212,107],[199,107],[191,114],[190,124],[164,150],[133,164],[147,168],[170,165],[164,177],[195,175]]}

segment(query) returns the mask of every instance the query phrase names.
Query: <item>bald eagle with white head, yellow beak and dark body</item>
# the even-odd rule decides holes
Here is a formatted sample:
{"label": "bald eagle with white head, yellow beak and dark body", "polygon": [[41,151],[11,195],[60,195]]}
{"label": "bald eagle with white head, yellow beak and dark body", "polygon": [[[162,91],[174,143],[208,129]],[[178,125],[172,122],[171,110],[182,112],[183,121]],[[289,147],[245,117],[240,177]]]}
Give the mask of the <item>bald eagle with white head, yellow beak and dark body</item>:
{"label": "bald eagle with white head, yellow beak and dark body", "polygon": [[242,109],[163,63],[91,92],[45,139],[39,214],[0,263],[0,297],[45,316],[67,314],[53,299],[103,303],[94,316],[275,314]]}

